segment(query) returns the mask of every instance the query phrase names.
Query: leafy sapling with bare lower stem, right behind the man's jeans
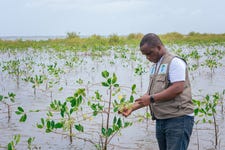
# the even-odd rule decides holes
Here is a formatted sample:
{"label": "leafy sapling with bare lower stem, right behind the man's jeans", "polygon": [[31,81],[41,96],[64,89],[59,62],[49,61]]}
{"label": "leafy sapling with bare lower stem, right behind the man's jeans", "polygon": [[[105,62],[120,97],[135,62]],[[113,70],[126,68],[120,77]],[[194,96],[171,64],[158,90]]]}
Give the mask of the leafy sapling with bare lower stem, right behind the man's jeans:
{"label": "leafy sapling with bare lower stem, right behind the man's jeans", "polygon": [[195,116],[198,116],[203,123],[213,123],[214,126],[214,147],[215,149],[218,147],[218,123],[216,120],[216,108],[219,101],[219,93],[216,92],[213,95],[206,95],[202,100],[193,100],[195,104]]}

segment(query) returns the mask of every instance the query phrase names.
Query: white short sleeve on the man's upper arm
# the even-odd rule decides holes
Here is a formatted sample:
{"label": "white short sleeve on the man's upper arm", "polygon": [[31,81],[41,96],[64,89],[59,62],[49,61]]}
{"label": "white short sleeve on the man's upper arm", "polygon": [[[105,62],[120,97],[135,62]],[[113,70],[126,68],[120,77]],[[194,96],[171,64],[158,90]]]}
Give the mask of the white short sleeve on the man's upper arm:
{"label": "white short sleeve on the man's upper arm", "polygon": [[169,68],[169,80],[171,83],[178,81],[185,81],[186,75],[186,63],[177,57],[174,57],[171,61]]}

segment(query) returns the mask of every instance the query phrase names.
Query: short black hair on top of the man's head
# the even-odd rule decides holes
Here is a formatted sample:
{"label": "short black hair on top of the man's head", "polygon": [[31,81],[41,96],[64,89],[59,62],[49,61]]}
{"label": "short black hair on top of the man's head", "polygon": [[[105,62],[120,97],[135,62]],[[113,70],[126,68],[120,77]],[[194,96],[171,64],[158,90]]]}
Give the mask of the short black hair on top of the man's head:
{"label": "short black hair on top of the man's head", "polygon": [[154,33],[146,34],[140,42],[140,47],[142,47],[145,43],[149,46],[156,47],[159,45],[163,45],[162,41],[160,40],[159,36]]}

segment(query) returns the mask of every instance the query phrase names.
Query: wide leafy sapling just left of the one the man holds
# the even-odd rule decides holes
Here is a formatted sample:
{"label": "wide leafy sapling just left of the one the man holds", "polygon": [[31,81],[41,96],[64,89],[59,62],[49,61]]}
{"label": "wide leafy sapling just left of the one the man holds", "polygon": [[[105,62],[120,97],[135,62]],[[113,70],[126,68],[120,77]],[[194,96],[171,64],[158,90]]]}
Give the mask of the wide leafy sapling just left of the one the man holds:
{"label": "wide leafy sapling just left of the one the man holds", "polygon": [[[73,116],[82,109],[80,105],[85,96],[85,89],[78,89],[74,95],[67,97],[63,102],[59,100],[52,101],[50,110],[47,113],[47,118],[41,118],[41,123],[37,124],[37,127],[40,129],[45,128],[46,133],[56,132],[57,129],[63,129],[63,131],[67,131],[68,133],[60,134],[69,136],[70,144],[72,144],[73,137],[75,136],[73,128],[84,132],[84,127]],[[53,118],[54,112],[59,112],[60,115],[56,114],[57,116]]]}

